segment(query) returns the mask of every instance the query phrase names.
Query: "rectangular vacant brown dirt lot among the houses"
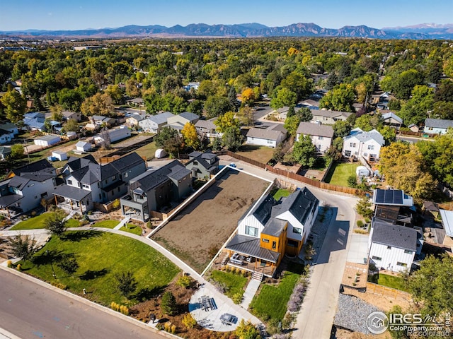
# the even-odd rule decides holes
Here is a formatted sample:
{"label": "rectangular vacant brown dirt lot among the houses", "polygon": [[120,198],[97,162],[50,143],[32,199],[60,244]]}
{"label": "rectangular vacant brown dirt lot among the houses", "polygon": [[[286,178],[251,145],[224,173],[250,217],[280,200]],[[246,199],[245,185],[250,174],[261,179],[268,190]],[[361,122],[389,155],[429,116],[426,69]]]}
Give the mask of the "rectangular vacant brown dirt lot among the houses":
{"label": "rectangular vacant brown dirt lot among the houses", "polygon": [[269,184],[241,172],[226,172],[152,239],[201,273]]}

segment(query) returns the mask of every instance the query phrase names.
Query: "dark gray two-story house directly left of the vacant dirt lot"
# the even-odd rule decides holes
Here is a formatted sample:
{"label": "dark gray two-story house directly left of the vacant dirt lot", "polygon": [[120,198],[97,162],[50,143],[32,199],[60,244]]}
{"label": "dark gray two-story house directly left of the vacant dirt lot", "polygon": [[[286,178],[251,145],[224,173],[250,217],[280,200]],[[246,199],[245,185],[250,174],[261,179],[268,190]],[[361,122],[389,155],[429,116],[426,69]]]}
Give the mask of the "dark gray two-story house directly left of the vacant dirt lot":
{"label": "dark gray two-story house directly left of the vacant dirt lot", "polygon": [[192,191],[190,170],[178,160],[149,170],[130,181],[128,194],[120,200],[122,215],[146,221],[153,211],[177,203]]}

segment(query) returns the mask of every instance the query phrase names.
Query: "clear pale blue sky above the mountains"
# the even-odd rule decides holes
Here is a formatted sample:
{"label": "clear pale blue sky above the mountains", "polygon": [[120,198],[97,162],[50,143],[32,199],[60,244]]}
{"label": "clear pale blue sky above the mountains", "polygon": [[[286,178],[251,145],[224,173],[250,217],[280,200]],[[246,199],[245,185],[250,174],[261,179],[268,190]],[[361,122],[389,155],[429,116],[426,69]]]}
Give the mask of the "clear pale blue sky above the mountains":
{"label": "clear pale blue sky above the mountains", "polygon": [[124,25],[316,23],[384,28],[452,23],[453,0],[1,0],[0,30],[78,30]]}

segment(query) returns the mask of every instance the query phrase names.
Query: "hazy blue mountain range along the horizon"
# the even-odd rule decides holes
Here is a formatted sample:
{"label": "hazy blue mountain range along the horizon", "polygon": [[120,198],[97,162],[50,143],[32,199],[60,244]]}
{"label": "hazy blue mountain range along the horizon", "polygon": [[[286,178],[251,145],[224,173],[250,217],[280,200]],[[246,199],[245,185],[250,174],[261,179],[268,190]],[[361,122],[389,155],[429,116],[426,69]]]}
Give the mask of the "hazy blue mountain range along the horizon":
{"label": "hazy blue mountain range along the horizon", "polygon": [[453,24],[420,24],[396,28],[370,28],[366,25],[322,28],[314,23],[294,23],[268,27],[260,23],[207,25],[127,25],[120,28],[86,30],[0,31],[0,37],[37,38],[120,38],[120,37],[367,37],[375,39],[453,39]]}

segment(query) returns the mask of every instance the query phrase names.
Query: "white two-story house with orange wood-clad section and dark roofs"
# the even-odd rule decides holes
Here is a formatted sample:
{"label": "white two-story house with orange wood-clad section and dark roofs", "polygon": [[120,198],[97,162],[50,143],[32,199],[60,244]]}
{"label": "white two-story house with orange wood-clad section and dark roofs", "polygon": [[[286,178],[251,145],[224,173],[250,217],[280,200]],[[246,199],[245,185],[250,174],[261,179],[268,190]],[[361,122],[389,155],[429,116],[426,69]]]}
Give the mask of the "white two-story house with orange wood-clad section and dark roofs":
{"label": "white two-story house with orange wood-clad section and dark roofs", "polygon": [[297,256],[318,215],[319,200],[304,187],[282,198],[260,198],[238,222],[226,244],[231,266],[272,277],[285,254]]}

